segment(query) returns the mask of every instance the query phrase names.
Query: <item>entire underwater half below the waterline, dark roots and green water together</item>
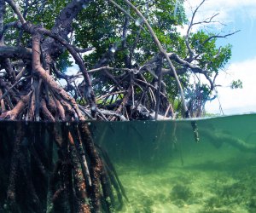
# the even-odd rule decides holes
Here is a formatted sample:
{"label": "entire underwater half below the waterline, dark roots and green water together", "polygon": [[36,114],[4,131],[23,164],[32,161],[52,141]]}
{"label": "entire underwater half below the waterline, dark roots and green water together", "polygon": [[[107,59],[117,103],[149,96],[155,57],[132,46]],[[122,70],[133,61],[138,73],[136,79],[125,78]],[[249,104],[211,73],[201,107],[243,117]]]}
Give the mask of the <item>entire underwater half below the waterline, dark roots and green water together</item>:
{"label": "entire underwater half below the waterline, dark roots and green water together", "polygon": [[256,114],[0,122],[0,132],[1,213],[256,212]]}

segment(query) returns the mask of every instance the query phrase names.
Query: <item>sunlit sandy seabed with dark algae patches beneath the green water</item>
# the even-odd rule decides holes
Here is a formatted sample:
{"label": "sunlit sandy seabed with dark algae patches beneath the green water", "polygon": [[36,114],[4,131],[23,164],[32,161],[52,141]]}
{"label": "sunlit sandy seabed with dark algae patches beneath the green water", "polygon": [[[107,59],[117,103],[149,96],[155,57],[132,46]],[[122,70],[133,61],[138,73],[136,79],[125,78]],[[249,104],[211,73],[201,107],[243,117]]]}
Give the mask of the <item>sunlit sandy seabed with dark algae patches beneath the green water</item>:
{"label": "sunlit sandy seabed with dark algae patches beneath the green water", "polygon": [[154,164],[118,164],[124,213],[256,212],[256,156],[229,150],[185,153]]}

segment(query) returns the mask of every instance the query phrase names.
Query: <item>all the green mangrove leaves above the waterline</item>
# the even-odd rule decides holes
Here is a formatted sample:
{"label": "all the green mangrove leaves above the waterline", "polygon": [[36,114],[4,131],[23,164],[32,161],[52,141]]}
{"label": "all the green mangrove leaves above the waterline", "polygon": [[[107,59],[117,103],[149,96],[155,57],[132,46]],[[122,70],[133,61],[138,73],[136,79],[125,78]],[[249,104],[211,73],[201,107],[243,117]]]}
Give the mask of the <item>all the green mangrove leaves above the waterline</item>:
{"label": "all the green mangrove leaves above the waterline", "polygon": [[[33,24],[43,25],[47,29],[51,29],[55,25],[55,19],[60,14],[67,3],[71,0],[48,0],[32,1],[19,0],[21,12],[25,15],[26,20]],[[148,33],[139,27],[142,20],[137,14],[130,9],[124,1],[116,0],[123,9],[133,17],[127,19],[127,15],[120,12],[119,9],[109,3],[108,0],[93,0],[88,6],[79,13],[79,17],[73,21],[73,32],[69,35],[69,41],[74,46],[79,48],[94,47],[94,51],[90,55],[83,55],[84,61],[88,69],[100,66],[113,67],[128,67],[136,68],[143,66],[143,64],[150,60],[155,55],[159,54],[159,49],[156,47],[154,40]],[[147,18],[148,23],[152,26],[160,43],[167,52],[177,54],[180,58],[186,59],[189,55],[185,43],[185,37],[177,31],[177,26],[184,26],[188,23],[184,9],[183,0],[133,0],[131,3],[137,6],[142,14]],[[28,4],[27,4],[28,3]],[[11,15],[13,12],[9,7],[7,8],[5,23],[15,21],[15,17]],[[207,70],[207,75],[213,77],[227,64],[231,57],[230,44],[218,48],[216,45],[216,38],[212,38],[213,34],[199,31],[189,35],[189,45],[195,51],[198,57],[195,64],[201,69]],[[23,44],[26,47],[31,47],[31,37],[23,34],[20,41],[17,41],[19,33],[9,28],[9,33],[5,36],[5,43],[17,45]],[[56,61],[56,65],[61,72],[65,72],[68,66],[72,66],[67,52],[64,52]],[[194,61],[193,61],[194,62]],[[168,68],[166,64],[164,68]],[[178,69],[182,66],[174,63]],[[118,76],[121,72],[111,72],[113,76]],[[179,79],[185,90],[187,100],[194,98],[195,85],[189,83],[191,72],[185,72],[179,75]],[[101,73],[94,73],[94,89],[96,95],[103,95],[108,93],[113,88],[113,80],[109,78],[102,78]],[[148,73],[143,73],[143,78],[148,82],[153,82],[154,77]],[[169,101],[179,102],[177,83],[174,78],[169,75],[163,77],[166,83],[166,92]],[[241,88],[241,81],[234,81],[231,88]],[[209,86],[201,84],[199,87],[203,88],[203,100],[209,97]],[[138,91],[137,89],[136,91]],[[177,109],[180,104],[177,104]]]}

